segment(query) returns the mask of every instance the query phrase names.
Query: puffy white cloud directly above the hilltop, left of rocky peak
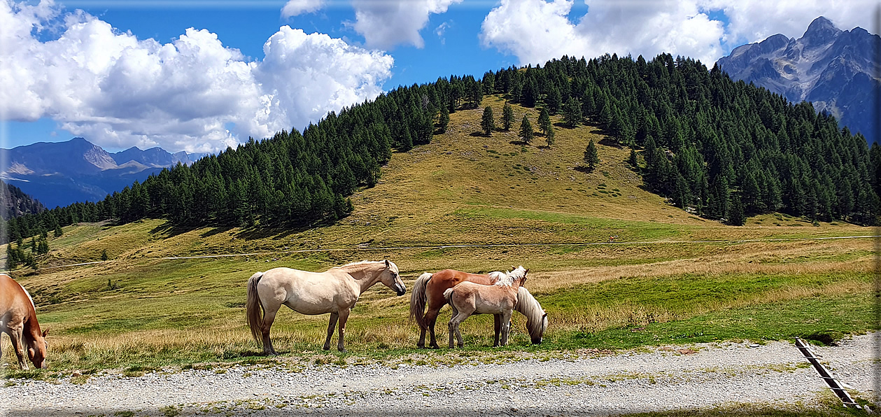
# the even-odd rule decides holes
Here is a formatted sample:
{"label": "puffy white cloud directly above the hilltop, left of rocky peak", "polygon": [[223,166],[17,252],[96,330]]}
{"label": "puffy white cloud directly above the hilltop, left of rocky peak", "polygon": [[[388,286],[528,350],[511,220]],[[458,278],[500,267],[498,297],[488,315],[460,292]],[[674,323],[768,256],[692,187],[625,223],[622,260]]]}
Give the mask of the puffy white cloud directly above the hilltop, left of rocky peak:
{"label": "puffy white cloud directly above the hilltop, left of rocky peak", "polygon": [[513,53],[521,63],[607,52],[647,58],[670,52],[706,62],[722,51],[721,22],[708,19],[693,1],[590,1],[589,12],[581,17],[569,16],[573,4],[502,0],[484,19],[481,40]]}

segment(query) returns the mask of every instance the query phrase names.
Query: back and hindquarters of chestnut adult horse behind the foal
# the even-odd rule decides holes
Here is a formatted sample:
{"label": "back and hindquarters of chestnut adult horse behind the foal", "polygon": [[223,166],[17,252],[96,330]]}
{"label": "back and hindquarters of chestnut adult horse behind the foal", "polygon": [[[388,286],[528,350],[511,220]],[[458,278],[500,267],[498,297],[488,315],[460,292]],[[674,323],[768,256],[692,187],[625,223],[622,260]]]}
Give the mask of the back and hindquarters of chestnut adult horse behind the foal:
{"label": "back and hindquarters of chestnut adult horse behind the foal", "polygon": [[[468,273],[445,269],[439,272],[426,272],[413,282],[413,290],[410,293],[410,319],[419,325],[419,342],[416,346],[426,346],[426,331],[431,335],[428,346],[437,349],[438,343],[434,336],[434,324],[437,323],[438,313],[447,305],[443,298],[443,292],[455,287],[461,282],[474,282],[489,286],[504,278],[504,272],[490,272],[485,274]],[[426,311],[426,305],[428,307]]]}

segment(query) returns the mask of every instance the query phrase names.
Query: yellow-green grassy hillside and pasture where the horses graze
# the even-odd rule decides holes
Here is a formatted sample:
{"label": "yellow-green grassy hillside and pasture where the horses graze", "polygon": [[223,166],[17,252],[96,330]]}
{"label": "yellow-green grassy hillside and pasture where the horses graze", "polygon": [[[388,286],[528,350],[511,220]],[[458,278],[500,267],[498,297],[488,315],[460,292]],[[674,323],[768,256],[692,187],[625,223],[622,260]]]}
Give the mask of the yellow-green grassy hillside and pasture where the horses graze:
{"label": "yellow-green grassy hillside and pasture where the horses graze", "polygon": [[[482,104],[496,115],[502,105],[497,96]],[[361,259],[395,261],[408,289],[426,271],[529,267],[527,287],[549,313],[547,343],[529,346],[515,316],[513,346],[502,351],[823,339],[874,325],[872,240],[816,240],[874,230],[779,214],[744,227],[702,220],[644,190],[626,163],[629,149],[593,128],[558,124],[551,147],[540,136],[526,145],[515,131],[483,136],[482,112],[457,111],[431,144],[396,153],[381,181],[352,197],[355,212],[327,227],[179,230],[163,220],[65,227],[50,239],[45,268],[12,273],[51,329],[50,369],[241,361],[258,352],[243,309],[253,272]],[[535,122],[537,109],[515,106],[515,120],[524,113]],[[581,159],[591,139],[601,162],[586,172]],[[105,250],[107,263],[51,268],[97,261]],[[250,255],[167,259],[237,254]],[[351,354],[342,356],[415,353],[408,301],[381,285],[364,294],[347,329]],[[281,311],[272,329],[279,353],[321,355],[327,319]],[[445,310],[441,342],[447,320]],[[491,329],[488,317],[468,319],[466,347],[487,350]],[[4,361],[13,358],[4,349]]]}

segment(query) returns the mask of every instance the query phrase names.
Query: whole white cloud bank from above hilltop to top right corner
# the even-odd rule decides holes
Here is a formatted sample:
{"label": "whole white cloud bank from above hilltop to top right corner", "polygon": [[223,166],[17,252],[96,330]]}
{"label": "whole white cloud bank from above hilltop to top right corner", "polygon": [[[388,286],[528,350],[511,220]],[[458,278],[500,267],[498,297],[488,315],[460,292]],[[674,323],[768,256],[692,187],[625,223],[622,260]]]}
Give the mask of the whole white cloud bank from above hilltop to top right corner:
{"label": "whole white cloud bank from above hilltop to top right corner", "polygon": [[[484,19],[486,47],[517,56],[521,63],[544,63],[567,55],[642,55],[667,52],[712,65],[727,49],[772,34],[800,37],[820,15],[841,29],[870,31],[870,0],[586,0],[588,12],[570,14],[574,0],[502,0]],[[712,19],[723,12],[729,24]]]}

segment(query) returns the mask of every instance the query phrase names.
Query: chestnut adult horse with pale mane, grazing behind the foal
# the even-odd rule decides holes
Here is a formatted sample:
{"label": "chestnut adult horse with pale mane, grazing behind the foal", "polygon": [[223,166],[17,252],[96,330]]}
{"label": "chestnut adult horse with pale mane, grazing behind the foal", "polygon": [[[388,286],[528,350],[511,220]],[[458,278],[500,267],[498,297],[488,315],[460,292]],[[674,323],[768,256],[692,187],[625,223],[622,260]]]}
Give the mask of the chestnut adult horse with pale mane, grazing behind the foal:
{"label": "chestnut adult horse with pale mane, grazing behind the foal", "polygon": [[[434,334],[434,324],[437,323],[438,314],[441,308],[447,305],[443,293],[449,288],[455,287],[462,282],[473,282],[490,286],[495,284],[499,279],[505,277],[505,272],[490,273],[469,273],[445,269],[439,272],[426,272],[419,276],[413,282],[413,289],[410,293],[410,319],[418,324],[419,342],[418,347],[426,346],[426,331],[430,333],[431,341],[429,346],[437,349],[437,339]],[[427,307],[427,309],[426,309]],[[517,305],[515,310],[526,316],[526,329],[529,331],[529,339],[534,344],[542,342],[544,331],[548,327],[547,313],[537,302],[535,297],[529,293],[524,287],[520,287],[517,292]],[[495,344],[499,343],[501,323],[500,317],[495,316]]]}

